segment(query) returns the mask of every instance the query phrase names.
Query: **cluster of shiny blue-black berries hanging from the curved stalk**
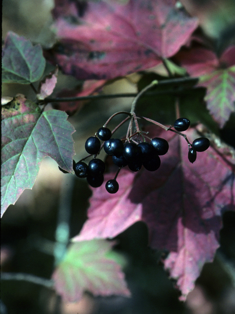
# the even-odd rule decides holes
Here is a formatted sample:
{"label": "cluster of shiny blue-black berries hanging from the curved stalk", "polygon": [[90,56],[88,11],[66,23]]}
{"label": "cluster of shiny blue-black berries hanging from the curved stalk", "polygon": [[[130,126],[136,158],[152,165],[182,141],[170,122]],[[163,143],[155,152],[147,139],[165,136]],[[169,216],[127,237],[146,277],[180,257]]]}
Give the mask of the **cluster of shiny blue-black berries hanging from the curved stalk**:
{"label": "cluster of shiny blue-black berries hanging from the curved stalk", "polygon": [[[171,129],[173,126],[169,128],[163,127],[166,131],[173,131],[183,135],[188,142],[186,135],[180,132],[188,130],[189,125],[190,121],[187,118],[179,118],[174,123],[175,131]],[[135,134],[132,134],[123,143],[119,138],[111,138],[112,132],[106,125],[100,128],[85,143],[85,149],[90,154],[88,157],[94,155],[94,158],[88,164],[82,161],[87,157],[74,163],[73,169],[76,176],[86,178],[87,182],[93,187],[98,187],[103,183],[105,163],[101,159],[96,158],[102,148],[107,155],[112,156],[114,164],[119,167],[115,178],[105,184],[109,193],[118,191],[119,185],[116,179],[122,167],[128,166],[132,171],[139,171],[143,166],[148,171],[156,171],[161,164],[159,156],[165,155],[168,151],[168,142],[161,137],[151,139],[146,135],[144,136],[143,133],[137,131],[136,134],[139,135],[137,141],[133,139]],[[147,142],[146,138],[150,141]],[[102,145],[100,140],[103,141]],[[196,160],[197,152],[204,152],[209,146],[210,141],[205,137],[195,139],[192,144],[188,142],[188,160],[193,163]]]}

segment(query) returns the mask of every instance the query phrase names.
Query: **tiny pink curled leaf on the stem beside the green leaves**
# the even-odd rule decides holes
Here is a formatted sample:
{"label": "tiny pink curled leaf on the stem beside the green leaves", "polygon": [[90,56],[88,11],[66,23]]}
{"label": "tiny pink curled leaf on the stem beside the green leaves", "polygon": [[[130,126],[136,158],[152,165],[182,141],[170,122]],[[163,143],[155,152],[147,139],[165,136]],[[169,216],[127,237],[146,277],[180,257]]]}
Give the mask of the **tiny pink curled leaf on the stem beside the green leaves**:
{"label": "tiny pink curled leaf on the stem beside the green leaves", "polygon": [[39,84],[37,99],[44,100],[53,93],[57,83],[58,67],[51,71]]}

